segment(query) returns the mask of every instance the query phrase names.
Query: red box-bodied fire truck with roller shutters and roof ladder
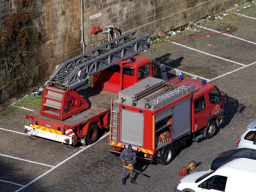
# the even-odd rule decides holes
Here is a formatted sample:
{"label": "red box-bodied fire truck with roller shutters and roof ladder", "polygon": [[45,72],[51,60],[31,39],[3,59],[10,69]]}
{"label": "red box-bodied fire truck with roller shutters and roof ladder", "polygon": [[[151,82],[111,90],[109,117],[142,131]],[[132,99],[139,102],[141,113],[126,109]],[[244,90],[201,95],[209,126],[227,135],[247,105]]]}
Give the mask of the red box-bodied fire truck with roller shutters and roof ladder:
{"label": "red box-bodied fire truck with roller shutters and roof ladder", "polygon": [[189,138],[212,138],[223,123],[227,98],[205,80],[143,79],[112,98],[110,152],[120,155],[132,145],[137,158],[167,165]]}

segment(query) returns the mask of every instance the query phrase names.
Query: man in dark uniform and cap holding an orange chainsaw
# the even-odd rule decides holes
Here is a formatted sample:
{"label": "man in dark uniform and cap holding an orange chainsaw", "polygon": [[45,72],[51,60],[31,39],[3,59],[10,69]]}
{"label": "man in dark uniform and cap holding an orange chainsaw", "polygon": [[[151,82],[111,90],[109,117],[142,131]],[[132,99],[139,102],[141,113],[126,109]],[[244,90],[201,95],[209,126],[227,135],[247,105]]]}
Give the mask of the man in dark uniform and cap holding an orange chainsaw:
{"label": "man in dark uniform and cap holding an orange chainsaw", "polygon": [[[136,153],[135,151],[132,150],[132,146],[128,145],[127,148],[124,148],[124,150],[122,151],[121,155],[120,155],[120,159],[123,161],[122,164],[122,182],[123,185],[126,185],[126,181],[125,181],[125,172],[126,172],[126,168],[123,165],[127,165],[127,164],[134,164],[135,163],[135,159],[136,159]],[[137,184],[136,181],[134,180],[134,176],[133,176],[133,171],[129,170],[130,172],[130,177],[131,177],[131,183]]]}

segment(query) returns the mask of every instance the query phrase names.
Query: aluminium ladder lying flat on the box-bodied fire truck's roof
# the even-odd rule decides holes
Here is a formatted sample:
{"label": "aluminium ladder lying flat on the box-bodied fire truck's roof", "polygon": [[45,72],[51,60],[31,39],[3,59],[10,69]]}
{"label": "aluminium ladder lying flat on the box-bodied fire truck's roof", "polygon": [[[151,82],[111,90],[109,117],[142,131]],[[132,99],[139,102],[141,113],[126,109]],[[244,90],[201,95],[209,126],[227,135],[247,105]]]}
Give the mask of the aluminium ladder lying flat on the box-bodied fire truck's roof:
{"label": "aluminium ladder lying flat on the box-bodied fire truck's roof", "polygon": [[145,106],[148,104],[149,106],[153,107],[154,110],[166,105],[167,103],[170,103],[176,99],[179,99],[183,95],[188,94],[189,92],[192,92],[195,90],[195,85],[192,85],[188,87],[188,84],[184,84],[180,87],[177,87],[169,92],[166,92],[150,101],[145,103]]}

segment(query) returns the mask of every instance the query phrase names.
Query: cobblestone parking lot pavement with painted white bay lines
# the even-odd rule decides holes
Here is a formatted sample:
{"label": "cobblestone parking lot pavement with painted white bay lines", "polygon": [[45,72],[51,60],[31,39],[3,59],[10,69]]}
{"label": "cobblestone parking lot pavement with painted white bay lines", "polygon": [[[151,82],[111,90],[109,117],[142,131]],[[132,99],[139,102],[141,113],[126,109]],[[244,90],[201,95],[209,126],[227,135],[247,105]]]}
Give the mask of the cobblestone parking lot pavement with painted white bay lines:
{"label": "cobblestone parking lot pavement with painted white bay lines", "polygon": [[[243,15],[246,13],[255,17],[256,7]],[[138,184],[130,183],[128,178],[123,186],[121,161],[109,153],[108,135],[94,145],[77,148],[42,138],[32,140],[23,133],[24,125],[30,123],[25,118],[29,111],[11,107],[0,113],[0,191],[164,192],[173,191],[182,178],[179,169],[191,160],[202,162],[192,172],[209,170],[220,152],[236,148],[247,124],[256,118],[256,19],[237,14],[229,20],[223,18],[202,26],[220,32],[229,27],[227,34],[234,37],[220,34],[191,38],[158,44],[143,53],[166,65],[168,78],[179,73],[204,78],[228,93],[225,121],[212,139],[189,142],[166,166],[137,161],[135,168],[150,177],[135,174]],[[215,32],[201,28],[196,35],[211,33]]]}

